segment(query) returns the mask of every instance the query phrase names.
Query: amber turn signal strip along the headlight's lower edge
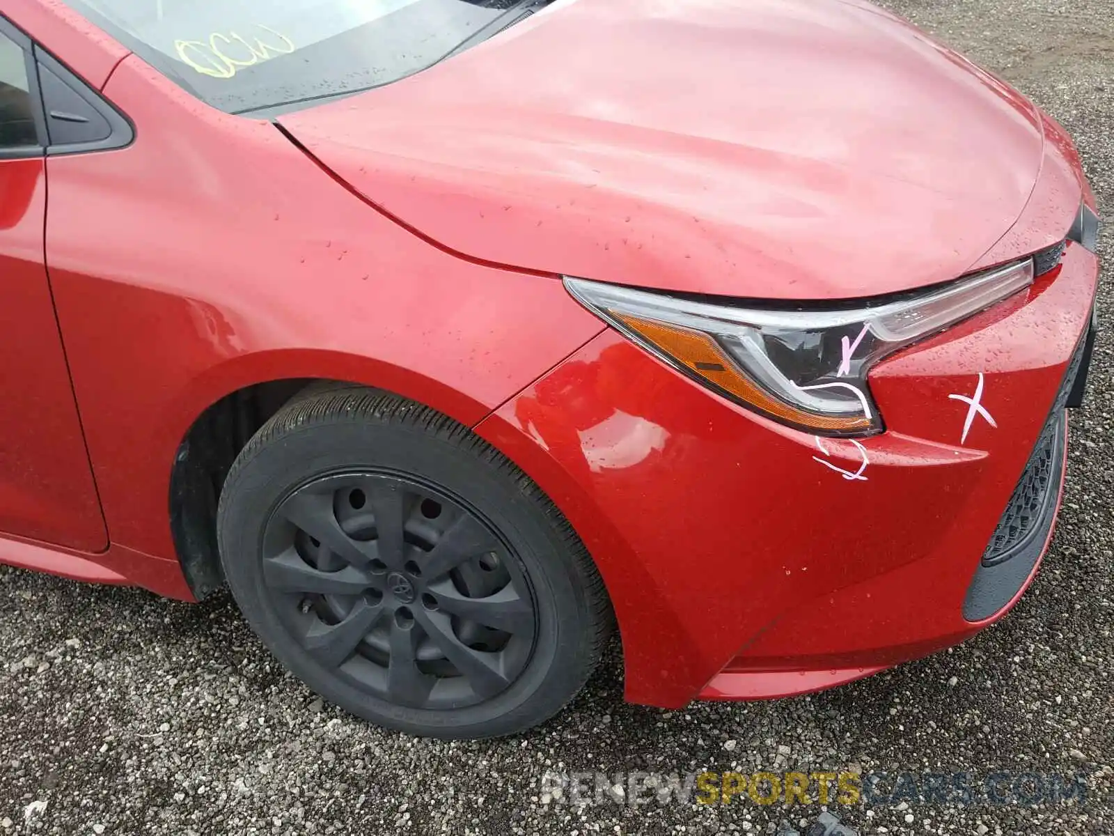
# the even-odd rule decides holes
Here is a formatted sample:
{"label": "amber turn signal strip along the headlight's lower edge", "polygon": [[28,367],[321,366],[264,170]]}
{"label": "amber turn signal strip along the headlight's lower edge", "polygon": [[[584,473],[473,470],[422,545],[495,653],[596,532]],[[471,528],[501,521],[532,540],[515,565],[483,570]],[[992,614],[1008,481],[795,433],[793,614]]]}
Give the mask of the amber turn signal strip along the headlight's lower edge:
{"label": "amber turn signal strip along the headlight's lower edge", "polygon": [[705,333],[615,310],[608,313],[693,375],[773,418],[825,432],[863,430],[871,426],[870,419],[863,416],[813,415],[770,397],[742,375],[715,340]]}

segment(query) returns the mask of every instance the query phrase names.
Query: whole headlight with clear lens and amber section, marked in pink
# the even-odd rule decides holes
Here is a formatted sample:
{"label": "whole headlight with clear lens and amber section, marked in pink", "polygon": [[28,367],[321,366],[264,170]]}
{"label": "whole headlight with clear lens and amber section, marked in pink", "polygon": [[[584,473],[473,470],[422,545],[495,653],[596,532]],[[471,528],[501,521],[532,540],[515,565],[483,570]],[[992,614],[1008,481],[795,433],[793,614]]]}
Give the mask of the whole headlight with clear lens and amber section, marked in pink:
{"label": "whole headlight with clear lens and amber section, marked in pink", "polygon": [[822,310],[715,304],[565,279],[589,310],[720,395],[823,436],[882,429],[867,372],[881,358],[1033,283],[1033,260],[891,301]]}

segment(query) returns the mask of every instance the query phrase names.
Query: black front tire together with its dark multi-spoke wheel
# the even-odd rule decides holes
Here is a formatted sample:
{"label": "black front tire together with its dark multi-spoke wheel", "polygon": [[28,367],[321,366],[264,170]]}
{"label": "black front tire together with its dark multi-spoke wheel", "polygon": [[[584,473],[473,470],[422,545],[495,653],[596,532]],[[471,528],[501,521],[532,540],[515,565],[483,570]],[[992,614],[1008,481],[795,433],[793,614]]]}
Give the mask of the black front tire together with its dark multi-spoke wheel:
{"label": "black front tire together with its dark multi-spoke wheel", "polygon": [[233,465],[217,531],[232,594],[275,657],[412,735],[543,722],[612,625],[595,565],[537,485],[394,396],[340,389],[280,410]]}

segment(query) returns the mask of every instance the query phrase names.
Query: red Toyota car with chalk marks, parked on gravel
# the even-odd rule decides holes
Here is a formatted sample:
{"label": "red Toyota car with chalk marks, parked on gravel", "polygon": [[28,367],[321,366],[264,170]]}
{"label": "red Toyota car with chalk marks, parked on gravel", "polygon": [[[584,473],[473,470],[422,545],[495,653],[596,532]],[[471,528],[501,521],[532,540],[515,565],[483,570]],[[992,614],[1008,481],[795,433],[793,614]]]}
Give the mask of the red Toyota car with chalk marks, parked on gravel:
{"label": "red Toyota car with chalk marks, parked on gravel", "polygon": [[6,0],[0,81],[6,563],[446,738],[613,623],[634,702],[781,697],[1036,572],[1094,195],[866,0]]}

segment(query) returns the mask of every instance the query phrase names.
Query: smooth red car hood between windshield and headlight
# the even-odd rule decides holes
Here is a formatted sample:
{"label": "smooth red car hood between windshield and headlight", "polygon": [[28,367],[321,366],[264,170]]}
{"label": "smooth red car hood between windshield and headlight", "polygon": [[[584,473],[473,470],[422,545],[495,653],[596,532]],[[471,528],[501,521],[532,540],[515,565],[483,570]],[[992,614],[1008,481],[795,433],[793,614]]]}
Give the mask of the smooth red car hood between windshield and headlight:
{"label": "smooth red car hood between windshield and headlight", "polygon": [[469,256],[784,299],[960,275],[1043,155],[1027,100],[862,0],[557,0],[280,121]]}

